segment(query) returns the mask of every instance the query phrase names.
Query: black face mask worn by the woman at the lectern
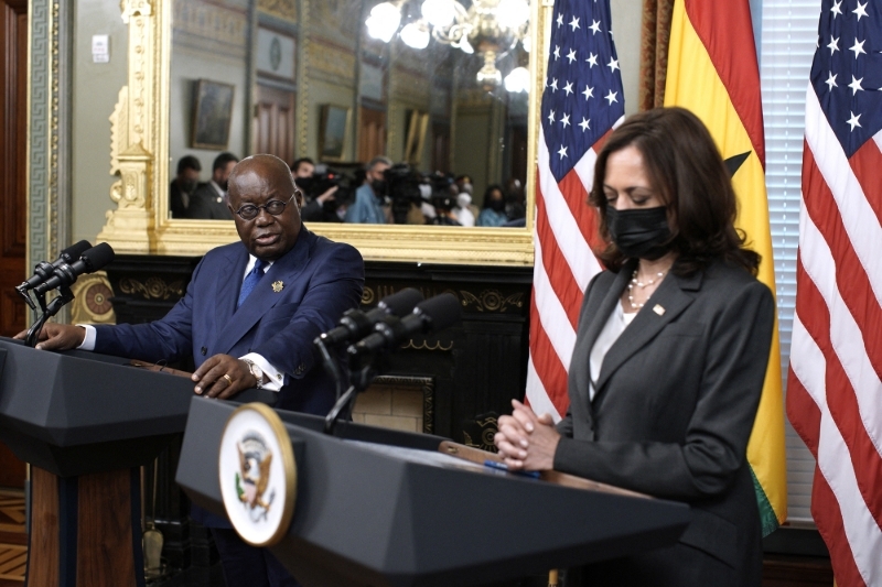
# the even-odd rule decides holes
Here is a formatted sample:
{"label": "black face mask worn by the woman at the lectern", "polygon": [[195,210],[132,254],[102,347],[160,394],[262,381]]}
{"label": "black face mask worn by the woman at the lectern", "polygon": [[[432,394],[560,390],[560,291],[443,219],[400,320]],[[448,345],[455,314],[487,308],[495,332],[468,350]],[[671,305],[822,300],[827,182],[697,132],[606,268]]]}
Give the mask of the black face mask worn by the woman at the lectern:
{"label": "black face mask worn by the woman at the lectern", "polygon": [[655,261],[670,250],[667,208],[616,210],[606,207],[606,227],[622,254]]}

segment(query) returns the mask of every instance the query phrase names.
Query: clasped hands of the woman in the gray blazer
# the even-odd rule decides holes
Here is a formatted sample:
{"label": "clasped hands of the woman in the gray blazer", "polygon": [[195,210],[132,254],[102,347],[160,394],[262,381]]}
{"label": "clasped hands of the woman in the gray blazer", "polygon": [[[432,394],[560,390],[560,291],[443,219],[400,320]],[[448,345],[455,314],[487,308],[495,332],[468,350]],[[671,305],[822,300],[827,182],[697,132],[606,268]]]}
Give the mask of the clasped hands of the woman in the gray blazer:
{"label": "clasped hands of the woman in the gray blazer", "polygon": [[499,432],[493,441],[510,470],[551,470],[560,434],[549,414],[536,413],[517,400],[514,412],[499,417]]}

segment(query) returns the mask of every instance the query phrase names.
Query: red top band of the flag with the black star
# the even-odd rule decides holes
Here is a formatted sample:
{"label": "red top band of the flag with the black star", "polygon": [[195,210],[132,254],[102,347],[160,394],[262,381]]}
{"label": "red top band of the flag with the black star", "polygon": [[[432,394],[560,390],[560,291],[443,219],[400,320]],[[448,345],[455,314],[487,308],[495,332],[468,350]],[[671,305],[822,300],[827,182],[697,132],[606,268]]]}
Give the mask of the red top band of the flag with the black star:
{"label": "red top band of the flag with the black star", "polygon": [[750,4],[686,0],[685,7],[765,170],[760,68],[756,65]]}

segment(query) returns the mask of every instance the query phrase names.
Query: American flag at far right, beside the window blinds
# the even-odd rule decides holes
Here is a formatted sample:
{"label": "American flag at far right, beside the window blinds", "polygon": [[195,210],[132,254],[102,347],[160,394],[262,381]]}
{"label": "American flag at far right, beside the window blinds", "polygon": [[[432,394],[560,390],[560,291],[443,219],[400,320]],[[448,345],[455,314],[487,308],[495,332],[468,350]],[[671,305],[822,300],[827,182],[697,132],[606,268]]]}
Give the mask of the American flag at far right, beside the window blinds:
{"label": "American flag at far right, beside the window blinds", "polygon": [[787,413],[838,585],[882,585],[882,0],[824,0]]}

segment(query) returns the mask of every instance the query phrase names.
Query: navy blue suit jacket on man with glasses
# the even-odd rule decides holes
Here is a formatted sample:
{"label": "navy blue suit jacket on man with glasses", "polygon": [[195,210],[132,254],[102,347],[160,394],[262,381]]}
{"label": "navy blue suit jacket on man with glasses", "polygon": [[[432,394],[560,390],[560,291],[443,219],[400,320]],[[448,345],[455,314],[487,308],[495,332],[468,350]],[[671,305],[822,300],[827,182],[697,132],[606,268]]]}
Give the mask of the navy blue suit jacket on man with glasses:
{"label": "navy blue suit jacket on man with glasses", "polygon": [[[364,262],[353,247],[301,228],[236,309],[248,251],[241,242],[208,251],[186,294],[160,320],[97,326],[95,350],[155,362],[193,355],[196,367],[217,354],[257,352],[284,373],[277,407],[325,414],[334,384],[313,354],[313,339],[358,306]],[[276,293],[273,283],[281,283]],[[277,285],[278,289],[278,285]]]}

